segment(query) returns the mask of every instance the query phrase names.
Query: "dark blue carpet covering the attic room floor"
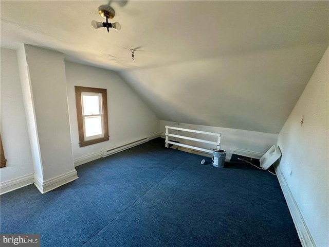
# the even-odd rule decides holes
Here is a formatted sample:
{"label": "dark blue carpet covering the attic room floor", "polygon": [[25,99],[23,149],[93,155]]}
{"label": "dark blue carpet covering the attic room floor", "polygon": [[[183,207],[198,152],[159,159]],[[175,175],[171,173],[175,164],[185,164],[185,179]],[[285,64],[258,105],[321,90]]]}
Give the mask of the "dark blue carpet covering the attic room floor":
{"label": "dark blue carpet covering the attic room floor", "polygon": [[42,246],[301,246],[277,177],[155,139],[77,167],[44,195],[1,196],[1,233],[38,233]]}

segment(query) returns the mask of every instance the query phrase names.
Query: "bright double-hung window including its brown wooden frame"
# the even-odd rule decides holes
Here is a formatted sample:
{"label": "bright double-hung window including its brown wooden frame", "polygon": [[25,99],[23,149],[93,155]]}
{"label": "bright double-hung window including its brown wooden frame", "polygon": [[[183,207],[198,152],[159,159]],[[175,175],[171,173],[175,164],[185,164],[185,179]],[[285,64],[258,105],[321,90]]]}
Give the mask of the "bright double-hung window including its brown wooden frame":
{"label": "bright double-hung window including its brown wooden frame", "polygon": [[75,86],[80,147],[108,140],[106,89]]}

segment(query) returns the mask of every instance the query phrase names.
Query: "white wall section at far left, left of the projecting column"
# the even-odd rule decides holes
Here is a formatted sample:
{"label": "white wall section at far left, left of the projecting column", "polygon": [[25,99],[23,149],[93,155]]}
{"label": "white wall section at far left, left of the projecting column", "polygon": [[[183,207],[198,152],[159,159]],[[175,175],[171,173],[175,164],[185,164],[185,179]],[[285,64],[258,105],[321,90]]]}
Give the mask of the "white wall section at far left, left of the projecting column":
{"label": "white wall section at far left, left of the projecting column", "polygon": [[33,173],[16,51],[1,48],[1,136],[7,159],[1,183]]}

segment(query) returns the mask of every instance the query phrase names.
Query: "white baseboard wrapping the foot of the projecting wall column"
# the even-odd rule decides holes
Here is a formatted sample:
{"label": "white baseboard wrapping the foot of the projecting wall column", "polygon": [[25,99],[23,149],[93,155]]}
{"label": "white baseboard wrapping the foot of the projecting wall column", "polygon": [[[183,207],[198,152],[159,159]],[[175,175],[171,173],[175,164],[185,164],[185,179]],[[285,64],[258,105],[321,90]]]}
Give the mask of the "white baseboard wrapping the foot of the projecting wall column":
{"label": "white baseboard wrapping the foot of the projecting wall column", "polygon": [[78,179],[78,174],[76,170],[73,170],[47,181],[41,181],[38,177],[34,176],[34,185],[41,193],[46,193],[76,179]]}

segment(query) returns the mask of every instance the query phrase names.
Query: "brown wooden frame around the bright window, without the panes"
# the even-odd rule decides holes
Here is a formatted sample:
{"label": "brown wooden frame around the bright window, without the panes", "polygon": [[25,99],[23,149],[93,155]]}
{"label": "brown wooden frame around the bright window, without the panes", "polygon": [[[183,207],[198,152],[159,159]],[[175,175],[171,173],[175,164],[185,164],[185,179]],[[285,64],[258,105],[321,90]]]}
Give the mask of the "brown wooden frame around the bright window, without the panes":
{"label": "brown wooden frame around the bright window, without the panes", "polygon": [[[95,87],[85,87],[85,86],[75,86],[76,91],[76,105],[77,105],[77,118],[78,118],[78,131],[79,131],[79,146],[85,147],[88,145],[106,142],[109,139],[108,136],[108,117],[107,117],[107,93],[106,89],[97,89]],[[81,93],[82,92],[92,92],[102,94],[102,111],[103,111],[103,126],[104,126],[104,136],[100,138],[85,140],[84,130],[83,130],[83,114],[82,114],[82,103],[81,103]]]}

